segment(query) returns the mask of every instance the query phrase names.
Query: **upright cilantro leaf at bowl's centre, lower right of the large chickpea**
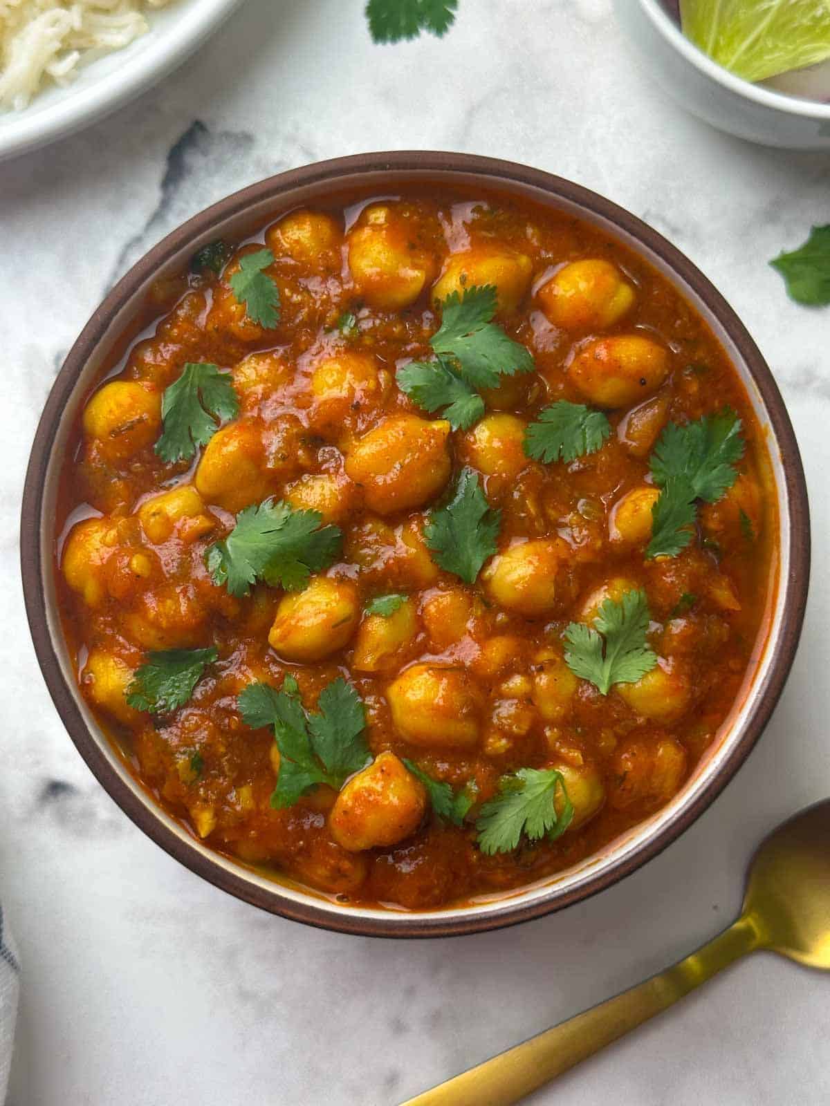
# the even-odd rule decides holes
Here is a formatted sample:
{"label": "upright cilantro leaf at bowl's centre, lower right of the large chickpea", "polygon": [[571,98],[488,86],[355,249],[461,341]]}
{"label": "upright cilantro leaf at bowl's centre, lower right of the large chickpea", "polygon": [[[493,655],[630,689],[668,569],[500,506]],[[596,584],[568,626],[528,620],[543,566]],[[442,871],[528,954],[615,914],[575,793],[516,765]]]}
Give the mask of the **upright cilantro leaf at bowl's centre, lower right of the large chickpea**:
{"label": "upright cilantro leaf at bowl's centre, lower right of the large chickpea", "polygon": [[442,568],[471,584],[496,552],[501,512],[490,508],[478,476],[463,469],[450,501],[430,512],[424,536]]}

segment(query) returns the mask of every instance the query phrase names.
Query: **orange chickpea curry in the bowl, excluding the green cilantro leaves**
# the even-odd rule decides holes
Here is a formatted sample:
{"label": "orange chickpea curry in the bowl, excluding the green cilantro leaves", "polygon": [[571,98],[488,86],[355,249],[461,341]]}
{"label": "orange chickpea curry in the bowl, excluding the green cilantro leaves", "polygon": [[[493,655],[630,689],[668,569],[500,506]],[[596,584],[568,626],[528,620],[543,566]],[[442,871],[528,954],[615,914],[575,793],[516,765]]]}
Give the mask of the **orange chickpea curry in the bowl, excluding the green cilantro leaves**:
{"label": "orange chickpea curry in the bowl, excluding the green cilantro leaves", "polygon": [[[228,284],[240,253],[263,242],[281,298],[273,330],[247,319]],[[584,260],[594,264],[566,268]],[[398,389],[395,371],[433,356],[437,299],[487,283],[499,293],[496,322],[527,346],[536,371],[502,377],[485,394],[485,418],[452,431]],[[676,794],[764,630],[777,519],[744,387],[667,280],[571,216],[498,194],[412,190],[292,212],[239,247],[220,276],[159,283],[147,312],[151,336],[127,348],[103,385],[111,390],[77,427],[56,555],[83,693],[166,810],[217,851],[341,901],[427,909],[572,865]],[[356,316],[354,333],[336,327],[343,312]],[[593,363],[578,371],[585,349]],[[603,392],[637,358],[642,373]],[[153,448],[160,396],[188,362],[231,372],[239,417],[193,461],[163,463]],[[523,429],[558,399],[604,407],[612,434],[594,453],[546,465],[525,456]],[[645,560],[657,437],[668,420],[724,405],[747,441],[738,481],[701,509],[686,550]],[[375,448],[357,448],[371,434]],[[538,543],[523,567],[520,555],[516,578],[490,563],[468,586],[425,544],[425,519],[463,467],[501,512],[500,553]],[[185,491],[154,502],[172,489]],[[621,514],[623,497],[644,489],[645,510]],[[302,619],[283,607],[277,648],[269,633],[286,594],[258,584],[235,598],[205,566],[235,515],[268,497],[314,508],[344,533],[342,560],[321,575],[340,588],[345,614],[336,626],[323,614],[303,644]],[[600,597],[645,591],[661,658],[643,687],[608,696],[562,660],[566,626],[595,609],[603,587]],[[365,613],[390,592],[409,596],[394,628]],[[126,705],[148,650],[205,646],[219,660],[186,706],[154,717]],[[396,724],[394,686],[416,665],[427,667],[403,692],[398,685]],[[335,677],[351,681],[375,757],[408,758],[454,787],[475,781],[465,825],[440,821],[422,796],[405,836],[355,848],[332,833],[331,787],[273,810],[273,733],[243,723],[237,696],[256,681],[279,688],[289,671],[307,709]],[[485,856],[476,812],[521,766],[562,769],[573,823],[556,842],[522,839]]]}

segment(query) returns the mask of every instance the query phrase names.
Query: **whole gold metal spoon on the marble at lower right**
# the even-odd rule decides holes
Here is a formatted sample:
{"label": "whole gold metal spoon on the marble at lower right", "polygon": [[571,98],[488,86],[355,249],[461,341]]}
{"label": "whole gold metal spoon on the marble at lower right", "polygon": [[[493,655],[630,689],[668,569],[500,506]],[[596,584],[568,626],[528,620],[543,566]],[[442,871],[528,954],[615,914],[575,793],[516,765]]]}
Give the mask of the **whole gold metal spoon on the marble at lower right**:
{"label": "whole gold metal spoon on the marble at lower right", "polygon": [[740,917],[708,945],[402,1106],[517,1103],[756,949],[830,970],[830,800],[796,814],[762,842],[749,868]]}

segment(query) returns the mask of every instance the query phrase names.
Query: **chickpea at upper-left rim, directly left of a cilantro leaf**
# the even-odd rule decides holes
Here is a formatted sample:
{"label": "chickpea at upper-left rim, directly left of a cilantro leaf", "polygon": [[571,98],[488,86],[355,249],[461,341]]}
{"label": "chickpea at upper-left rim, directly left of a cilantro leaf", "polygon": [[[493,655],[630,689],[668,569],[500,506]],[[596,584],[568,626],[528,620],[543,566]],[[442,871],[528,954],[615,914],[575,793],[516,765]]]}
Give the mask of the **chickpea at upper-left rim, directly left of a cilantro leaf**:
{"label": "chickpea at upper-left rim, directly left of a cilantro leaf", "polygon": [[84,432],[105,456],[123,461],[152,445],[162,428],[162,399],[135,380],[111,380],[98,388],[83,414]]}

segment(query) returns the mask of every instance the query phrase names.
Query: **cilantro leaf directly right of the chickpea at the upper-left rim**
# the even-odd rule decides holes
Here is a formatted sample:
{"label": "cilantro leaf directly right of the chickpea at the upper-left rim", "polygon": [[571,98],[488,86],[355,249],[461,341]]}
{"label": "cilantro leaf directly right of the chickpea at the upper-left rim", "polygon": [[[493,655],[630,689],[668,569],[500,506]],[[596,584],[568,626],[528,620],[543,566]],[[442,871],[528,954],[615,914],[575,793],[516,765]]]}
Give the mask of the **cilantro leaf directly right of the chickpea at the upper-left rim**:
{"label": "cilantro leaf directly right of the chickpea at the upper-left rim", "polygon": [[238,414],[230,373],[208,362],[188,362],[162,396],[163,430],[155,452],[163,461],[186,460],[210,441],[220,421]]}

